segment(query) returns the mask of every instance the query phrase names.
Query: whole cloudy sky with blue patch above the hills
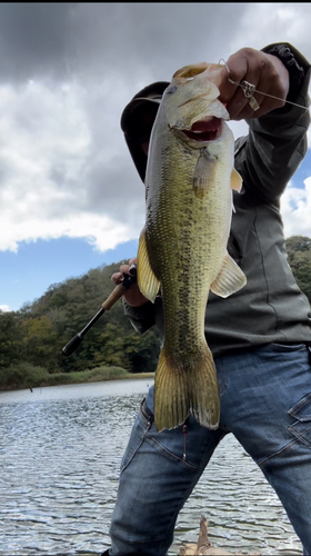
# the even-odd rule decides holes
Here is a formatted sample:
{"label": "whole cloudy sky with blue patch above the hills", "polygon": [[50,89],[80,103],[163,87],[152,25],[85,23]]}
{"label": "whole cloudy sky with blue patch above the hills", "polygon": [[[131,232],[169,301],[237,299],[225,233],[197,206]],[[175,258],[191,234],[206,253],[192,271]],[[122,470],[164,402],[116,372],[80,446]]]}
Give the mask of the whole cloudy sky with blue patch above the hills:
{"label": "whole cloudy sky with blue patch above the hills", "polygon": [[[136,255],[144,190],[120,117],[139,89],[242,47],[311,60],[310,20],[310,3],[0,3],[0,308]],[[282,215],[311,237],[310,151]]]}

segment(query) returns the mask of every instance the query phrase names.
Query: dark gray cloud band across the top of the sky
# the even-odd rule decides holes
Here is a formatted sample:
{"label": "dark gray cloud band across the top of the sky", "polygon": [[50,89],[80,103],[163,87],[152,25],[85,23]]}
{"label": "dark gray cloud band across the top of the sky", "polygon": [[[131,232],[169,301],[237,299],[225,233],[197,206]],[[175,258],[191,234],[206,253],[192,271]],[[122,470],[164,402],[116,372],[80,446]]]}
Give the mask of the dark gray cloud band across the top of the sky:
{"label": "dark gray cloud band across the top of the sky", "polygon": [[1,80],[92,72],[97,80],[108,70],[138,76],[146,69],[162,79],[159,71],[175,70],[172,52],[197,61],[225,50],[225,29],[244,11],[239,2],[4,2]]}

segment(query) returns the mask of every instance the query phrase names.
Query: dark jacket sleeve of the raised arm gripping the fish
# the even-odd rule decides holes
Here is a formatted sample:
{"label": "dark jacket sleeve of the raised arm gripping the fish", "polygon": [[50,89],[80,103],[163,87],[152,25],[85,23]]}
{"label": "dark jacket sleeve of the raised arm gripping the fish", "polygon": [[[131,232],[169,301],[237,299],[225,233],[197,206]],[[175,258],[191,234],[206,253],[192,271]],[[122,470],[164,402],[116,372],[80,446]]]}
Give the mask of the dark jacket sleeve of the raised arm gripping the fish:
{"label": "dark jacket sleeve of the raised arm gripping the fish", "polygon": [[308,149],[310,63],[291,49],[304,69],[304,80],[292,102],[305,108],[287,103],[261,118],[247,120],[249,135],[235,157],[244,187],[268,203],[279,202]]}

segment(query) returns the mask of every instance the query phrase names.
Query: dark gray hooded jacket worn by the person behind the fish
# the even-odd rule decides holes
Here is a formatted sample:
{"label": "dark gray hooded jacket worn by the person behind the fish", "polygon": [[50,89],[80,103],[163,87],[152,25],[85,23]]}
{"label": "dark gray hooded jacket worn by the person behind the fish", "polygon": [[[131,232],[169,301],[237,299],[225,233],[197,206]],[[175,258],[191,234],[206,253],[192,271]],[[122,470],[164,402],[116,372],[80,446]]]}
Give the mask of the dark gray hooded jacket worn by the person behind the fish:
{"label": "dark gray hooded jacket worn by the person behind the fish", "polygon": [[[310,64],[293,47],[291,49],[305,75],[294,102],[308,107]],[[165,85],[161,83],[162,92]],[[152,86],[144,91],[149,90]],[[141,96],[140,91],[137,97]],[[288,264],[280,215],[280,197],[307,152],[309,122],[308,110],[285,105],[249,120],[249,135],[235,141],[235,168],[242,176],[243,187],[240,193],[233,192],[235,212],[228,251],[248,282],[225,299],[209,295],[205,336],[214,356],[268,342],[311,341],[310,304]],[[127,132],[126,138],[128,140]],[[128,145],[132,152],[129,141]],[[140,175],[143,177],[143,171]],[[160,296],[154,304],[139,308],[124,302],[124,311],[137,331],[143,332],[157,325],[163,337]]]}

